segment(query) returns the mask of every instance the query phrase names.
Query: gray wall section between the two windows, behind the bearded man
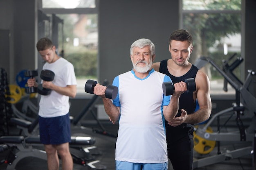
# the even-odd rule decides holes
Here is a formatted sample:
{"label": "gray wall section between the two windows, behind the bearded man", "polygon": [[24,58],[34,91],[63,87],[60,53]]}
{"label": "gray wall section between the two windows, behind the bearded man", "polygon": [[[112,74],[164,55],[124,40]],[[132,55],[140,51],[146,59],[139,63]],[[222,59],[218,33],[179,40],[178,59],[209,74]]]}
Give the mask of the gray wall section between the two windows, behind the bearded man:
{"label": "gray wall section between the two windows, behind the bearded man", "polygon": [[168,39],[179,28],[178,0],[99,1],[99,82],[112,84],[132,69],[130,46],[140,38],[155,44],[155,61],[170,58]]}

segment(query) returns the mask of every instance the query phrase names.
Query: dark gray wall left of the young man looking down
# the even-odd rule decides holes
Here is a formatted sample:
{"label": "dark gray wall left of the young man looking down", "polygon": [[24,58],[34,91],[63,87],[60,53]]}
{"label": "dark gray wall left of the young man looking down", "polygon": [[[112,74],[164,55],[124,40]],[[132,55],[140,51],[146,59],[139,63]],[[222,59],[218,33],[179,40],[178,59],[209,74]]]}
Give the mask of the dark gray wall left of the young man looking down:
{"label": "dark gray wall left of the young man looking down", "polygon": [[0,56],[0,67],[7,71],[10,84],[16,83],[20,70],[35,69],[35,4],[35,0],[0,0],[0,29],[9,30],[9,56]]}

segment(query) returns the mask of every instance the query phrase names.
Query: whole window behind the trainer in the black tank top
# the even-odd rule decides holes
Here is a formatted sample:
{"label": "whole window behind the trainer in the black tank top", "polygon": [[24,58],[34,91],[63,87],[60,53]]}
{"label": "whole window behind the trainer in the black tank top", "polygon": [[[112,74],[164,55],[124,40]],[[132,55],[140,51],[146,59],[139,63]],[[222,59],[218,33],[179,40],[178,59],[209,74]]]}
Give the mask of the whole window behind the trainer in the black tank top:
{"label": "whole window behind the trainer in the black tank top", "polygon": [[[191,63],[200,57],[210,57],[213,63],[227,72],[229,66],[241,57],[241,9],[242,0],[182,0],[181,28],[193,36]],[[240,62],[232,70],[234,78],[240,78]],[[227,69],[227,70],[225,70]],[[211,94],[235,94],[228,83],[227,92],[222,90],[224,76],[211,63],[202,67],[211,81]]]}

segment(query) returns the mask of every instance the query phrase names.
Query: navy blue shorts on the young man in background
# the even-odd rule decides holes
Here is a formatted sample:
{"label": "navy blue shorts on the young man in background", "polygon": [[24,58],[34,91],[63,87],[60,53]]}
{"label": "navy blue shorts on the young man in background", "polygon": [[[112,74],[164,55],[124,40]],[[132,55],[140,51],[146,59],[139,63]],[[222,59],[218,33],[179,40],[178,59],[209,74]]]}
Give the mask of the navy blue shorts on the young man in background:
{"label": "navy blue shorts on the young man in background", "polygon": [[39,133],[42,144],[64,144],[71,142],[70,114],[54,118],[39,116]]}

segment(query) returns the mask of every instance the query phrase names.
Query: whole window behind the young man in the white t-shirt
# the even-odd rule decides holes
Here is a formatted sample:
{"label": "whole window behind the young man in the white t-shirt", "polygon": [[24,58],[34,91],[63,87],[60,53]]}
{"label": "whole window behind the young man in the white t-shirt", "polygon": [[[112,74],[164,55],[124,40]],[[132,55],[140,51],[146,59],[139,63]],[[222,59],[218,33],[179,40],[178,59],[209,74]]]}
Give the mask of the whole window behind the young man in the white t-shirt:
{"label": "whole window behind the young man in the white t-shirt", "polygon": [[52,39],[58,55],[74,65],[77,94],[81,95],[86,95],[84,86],[88,79],[97,81],[96,2],[95,0],[42,0],[39,8],[50,18],[49,27],[52,28],[45,29],[44,35]]}

